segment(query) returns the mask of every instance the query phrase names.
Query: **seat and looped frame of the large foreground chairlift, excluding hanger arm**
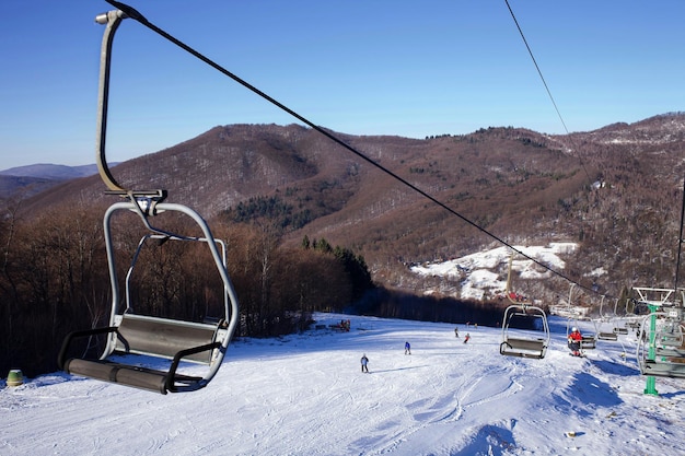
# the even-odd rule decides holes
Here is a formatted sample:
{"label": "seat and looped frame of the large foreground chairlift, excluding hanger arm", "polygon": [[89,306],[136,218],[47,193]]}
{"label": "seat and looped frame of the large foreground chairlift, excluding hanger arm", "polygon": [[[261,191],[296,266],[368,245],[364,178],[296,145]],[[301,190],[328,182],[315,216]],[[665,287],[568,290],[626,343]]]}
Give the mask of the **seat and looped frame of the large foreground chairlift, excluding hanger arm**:
{"label": "seat and looped frame of the large foreground chairlift, excluding hanger arm", "polygon": [[[200,226],[204,237],[182,236],[152,227],[141,206],[146,204],[141,204],[140,201],[117,202],[105,213],[105,244],[112,282],[109,325],[68,335],[62,343],[58,364],[69,374],[161,394],[194,391],[207,386],[219,371],[237,321],[237,300],[225,269],[225,246],[213,238],[207,223],[199,214],[185,206],[161,202],[155,204],[154,211],[176,211],[189,215]],[[126,277],[126,306],[121,312],[117,311],[120,293],[111,230],[112,215],[119,210],[137,212],[141,215],[146,226],[152,231],[142,237],[133,255]],[[129,283],[136,261],[147,239],[186,241],[207,245],[222,281],[223,316],[221,318],[214,323],[197,323],[133,313]],[[221,246],[221,255],[218,245]],[[104,336],[106,339],[105,348],[98,358],[70,356],[76,339],[96,336]],[[186,362],[200,363],[206,365],[206,369],[201,375],[187,375],[179,370]],[[160,364],[166,367],[160,369]]]}

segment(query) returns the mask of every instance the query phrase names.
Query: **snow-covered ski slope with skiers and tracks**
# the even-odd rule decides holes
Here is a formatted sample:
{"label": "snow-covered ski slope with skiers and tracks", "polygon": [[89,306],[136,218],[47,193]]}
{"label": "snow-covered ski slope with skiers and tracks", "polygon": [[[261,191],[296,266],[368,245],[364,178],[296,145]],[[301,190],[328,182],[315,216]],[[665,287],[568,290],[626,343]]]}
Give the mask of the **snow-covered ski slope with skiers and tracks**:
{"label": "snow-covered ski slope with skiers and tracks", "polygon": [[450,324],[316,315],[326,326],[341,318],[349,332],[235,341],[197,393],[61,373],[3,387],[0,454],[685,454],[685,381],[658,378],[660,396],[643,395],[635,335],[579,359],[566,320],[552,318],[547,356],[526,360],[499,354],[496,328],[458,325],[457,339]]}

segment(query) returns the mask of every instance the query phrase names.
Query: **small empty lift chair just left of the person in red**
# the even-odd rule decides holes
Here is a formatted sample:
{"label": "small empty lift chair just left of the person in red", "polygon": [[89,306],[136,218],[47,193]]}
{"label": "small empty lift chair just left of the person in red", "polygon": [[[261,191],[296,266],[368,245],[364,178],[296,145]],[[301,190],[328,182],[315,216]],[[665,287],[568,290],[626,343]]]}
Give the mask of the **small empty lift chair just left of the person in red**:
{"label": "small empty lift chair just left of the person in red", "polygon": [[[524,317],[534,318],[542,321],[543,337],[532,336],[526,331],[518,331],[513,335],[510,331],[510,324],[513,318]],[[502,341],[499,346],[500,354],[506,356],[520,356],[543,359],[549,346],[549,326],[547,325],[547,316],[545,312],[532,305],[510,305],[504,311],[502,319]]]}

